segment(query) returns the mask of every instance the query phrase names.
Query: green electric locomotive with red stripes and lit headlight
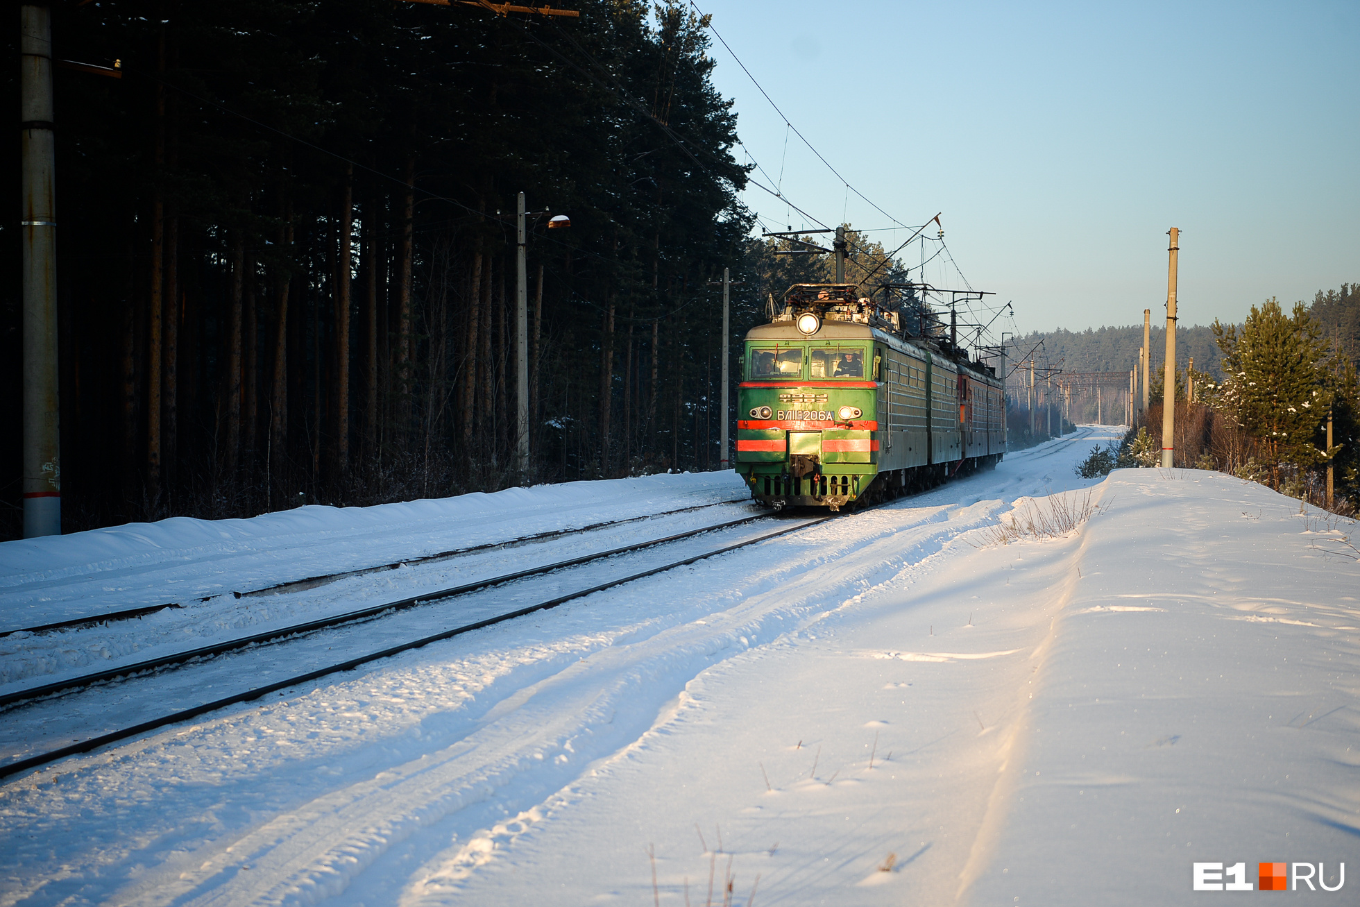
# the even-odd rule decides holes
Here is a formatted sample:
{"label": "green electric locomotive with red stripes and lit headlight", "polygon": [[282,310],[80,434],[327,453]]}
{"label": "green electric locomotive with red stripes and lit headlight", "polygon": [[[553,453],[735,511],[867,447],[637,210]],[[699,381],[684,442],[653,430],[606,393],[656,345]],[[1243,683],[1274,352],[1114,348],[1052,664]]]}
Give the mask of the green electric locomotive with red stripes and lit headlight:
{"label": "green electric locomotive with red stripes and lit headlight", "polygon": [[[774,507],[840,507],[928,488],[1005,453],[994,369],[913,335],[851,284],[796,284],[747,333],[737,472]],[[772,306],[774,309],[774,306]]]}

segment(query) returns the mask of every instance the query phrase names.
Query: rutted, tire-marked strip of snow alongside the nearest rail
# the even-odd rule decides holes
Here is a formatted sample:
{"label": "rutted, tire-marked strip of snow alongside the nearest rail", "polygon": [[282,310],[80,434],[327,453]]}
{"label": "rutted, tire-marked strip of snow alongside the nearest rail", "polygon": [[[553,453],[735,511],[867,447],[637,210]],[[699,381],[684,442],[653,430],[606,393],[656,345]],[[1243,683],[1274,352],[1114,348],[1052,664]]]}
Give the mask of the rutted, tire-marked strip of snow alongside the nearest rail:
{"label": "rutted, tire-marked strip of snow alongside the nearest rail", "polygon": [[[253,708],[180,734],[167,732],[73,759],[61,768],[60,795],[69,797],[71,785],[76,800],[84,798],[82,836],[71,842],[69,853],[26,850],[23,859],[16,858],[16,873],[24,878],[20,889],[34,893],[65,876],[57,900],[76,891],[106,900],[125,885],[118,899],[148,903],[222,903],[237,896],[309,902],[344,889],[366,866],[432,823],[461,842],[490,834],[500,820],[500,806],[532,812],[533,804],[581,778],[593,761],[624,752],[709,665],[811,627],[853,606],[865,592],[910,579],[959,533],[994,524],[1009,507],[979,498],[1042,494],[1044,479],[1016,476],[1006,465],[855,519],[834,521],[805,533],[806,538],[767,543],[687,568],[683,582],[658,579],[604,593],[589,608],[568,608],[532,630],[479,631],[460,645],[441,645],[438,653],[313,691],[290,703],[287,711],[298,717],[290,718],[280,736],[291,734],[284,742],[301,745],[303,764],[316,771],[299,771],[295,752],[271,745],[273,738],[261,734],[265,721]],[[960,495],[967,504],[947,500]],[[641,608],[654,613],[639,617]],[[526,651],[526,643],[540,636],[556,642]],[[411,702],[413,696],[400,707],[373,702],[369,688],[375,684],[400,680],[404,691],[419,691],[431,666],[449,665],[465,666],[465,689],[423,713],[423,703]],[[483,676],[487,681],[473,683]],[[332,734],[335,740],[324,748],[307,749],[306,737],[317,733],[307,728],[326,732],[336,726],[335,714],[352,700],[362,703],[363,718],[382,733]],[[549,702],[562,711],[544,713]],[[573,713],[568,703],[581,710]],[[554,719],[559,723],[552,725]],[[442,726],[445,733],[412,740],[409,732],[426,725]],[[233,742],[242,729],[257,734],[258,745],[256,752],[246,749],[245,763]],[[189,775],[185,761],[171,755],[177,749],[192,749],[199,760]],[[128,759],[129,751],[137,753],[136,760]],[[325,763],[348,768],[336,776]],[[447,798],[431,801],[422,783],[438,772],[443,774],[434,789]],[[175,793],[194,789],[194,778],[212,779],[216,806],[203,809],[201,802]],[[42,820],[30,828],[53,828],[44,824],[57,821],[44,816],[49,790],[16,790],[10,816],[27,813]],[[117,805],[113,790],[120,791]],[[201,812],[211,821],[186,823],[185,810]],[[337,817],[354,823],[350,831]],[[72,815],[69,821],[75,820]],[[129,827],[144,832],[129,839],[122,834]],[[26,895],[10,889],[8,896]]]}

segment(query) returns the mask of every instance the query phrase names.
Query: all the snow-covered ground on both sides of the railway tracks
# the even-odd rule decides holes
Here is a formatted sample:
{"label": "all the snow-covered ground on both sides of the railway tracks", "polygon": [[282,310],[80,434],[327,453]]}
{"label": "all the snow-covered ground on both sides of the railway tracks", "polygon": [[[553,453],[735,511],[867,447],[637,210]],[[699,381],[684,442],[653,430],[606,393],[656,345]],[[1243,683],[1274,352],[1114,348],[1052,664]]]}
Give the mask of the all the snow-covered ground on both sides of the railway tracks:
{"label": "all the snow-covered ground on both sides of the railway tracks", "polygon": [[[1077,479],[1115,434],[5,779],[0,903],[1195,903],[1194,862],[1251,883],[1321,862],[1334,887],[1360,842],[1360,563],[1327,551],[1360,533],[1219,473]],[[427,526],[294,511],[329,540],[239,521],[220,543],[215,524],[7,543],[0,617],[741,492],[634,481],[517,491],[518,518],[397,506]],[[1030,499],[1088,491],[1078,532],[996,544]],[[354,582],[326,594],[377,594]],[[65,733],[72,703],[97,721],[139,684],[5,723]]]}

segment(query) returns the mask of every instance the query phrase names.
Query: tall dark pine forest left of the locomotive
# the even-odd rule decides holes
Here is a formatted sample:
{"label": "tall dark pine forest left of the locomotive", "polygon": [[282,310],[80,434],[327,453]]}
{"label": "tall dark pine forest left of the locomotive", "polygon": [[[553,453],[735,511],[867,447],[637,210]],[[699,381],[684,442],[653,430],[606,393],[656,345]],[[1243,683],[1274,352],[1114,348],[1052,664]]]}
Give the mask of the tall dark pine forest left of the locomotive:
{"label": "tall dark pine forest left of the locomotive", "polygon": [[[760,252],[704,22],[669,0],[552,5],[582,15],[53,4],[56,57],[122,72],[56,69],[67,532],[520,481],[520,190],[545,212],[529,237],[529,479],[717,466],[710,281]],[[556,213],[570,228],[545,228]],[[751,283],[737,336],[758,318]],[[19,530],[18,477],[10,431],[0,537]]]}

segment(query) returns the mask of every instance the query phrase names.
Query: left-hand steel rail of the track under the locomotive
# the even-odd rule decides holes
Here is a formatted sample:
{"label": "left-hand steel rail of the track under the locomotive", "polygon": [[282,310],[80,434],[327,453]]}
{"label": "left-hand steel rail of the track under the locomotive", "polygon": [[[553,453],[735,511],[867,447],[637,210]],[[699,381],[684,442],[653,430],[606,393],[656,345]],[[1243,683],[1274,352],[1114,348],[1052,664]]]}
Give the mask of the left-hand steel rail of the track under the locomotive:
{"label": "left-hand steel rail of the track under the locomotive", "polygon": [[99,670],[91,674],[80,674],[79,677],[56,680],[50,684],[44,684],[41,687],[16,689],[14,692],[0,695],[0,708],[11,706],[16,702],[24,702],[27,699],[50,696],[53,694],[65,689],[75,689],[78,687],[90,687],[92,684],[98,684],[106,680],[116,680],[118,677],[131,679],[133,674],[140,674],[148,670],[156,670],[159,668],[182,665],[189,661],[196,661],[200,658],[212,658],[216,655],[226,654],[228,651],[235,651],[237,649],[246,649],[249,646],[257,646],[277,639],[301,636],[305,634],[316,632],[318,630],[328,630],[330,627],[358,623],[360,620],[367,620],[369,617],[375,617],[389,611],[405,611],[408,608],[415,608],[423,604],[442,601],[445,598],[453,598],[456,596],[462,596],[469,592],[476,592],[477,589],[488,589],[491,586],[499,586],[502,583],[513,582],[515,579],[524,579],[525,577],[534,577],[539,574],[552,572],[555,570],[563,570],[566,567],[575,567],[578,564],[590,563],[592,560],[604,560],[605,558],[612,558],[615,555],[622,555],[631,551],[642,551],[645,548],[664,545],[669,541],[679,541],[681,538],[690,538],[691,536],[698,536],[706,532],[714,532],[717,529],[726,529],[729,526],[737,526],[744,522],[751,522],[753,519],[764,519],[767,517],[768,514],[763,513],[753,514],[751,517],[741,517],[740,519],[730,519],[728,522],[721,522],[713,526],[690,529],[681,533],[676,533],[673,536],[666,536],[665,538],[653,538],[651,541],[645,541],[638,545],[627,545],[623,548],[613,548],[611,551],[597,552],[593,555],[582,555],[581,558],[571,558],[570,560],[559,560],[555,564],[544,564],[540,567],[517,570],[515,572],[502,574],[499,577],[490,577],[487,579],[477,579],[458,586],[449,586],[447,589],[437,589],[430,593],[411,596],[408,598],[398,598],[397,601],[388,601],[381,605],[370,605],[369,608],[360,608],[359,611],[347,611],[344,613],[330,615],[329,617],[318,617],[316,620],[309,620],[301,624],[291,624],[288,627],[280,627],[277,630],[267,630],[264,632],[258,632],[250,636],[239,636],[237,639],[228,639],[226,642],[212,643],[211,646],[200,646],[199,649],[189,649],[186,651],[160,655],[159,658],[148,658],[146,661],[139,661],[131,665],[122,665],[120,668],[109,668],[107,670]]}

